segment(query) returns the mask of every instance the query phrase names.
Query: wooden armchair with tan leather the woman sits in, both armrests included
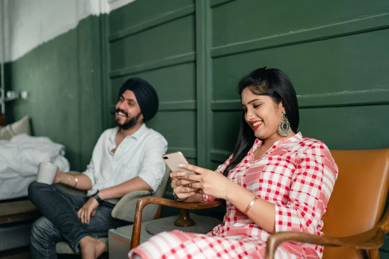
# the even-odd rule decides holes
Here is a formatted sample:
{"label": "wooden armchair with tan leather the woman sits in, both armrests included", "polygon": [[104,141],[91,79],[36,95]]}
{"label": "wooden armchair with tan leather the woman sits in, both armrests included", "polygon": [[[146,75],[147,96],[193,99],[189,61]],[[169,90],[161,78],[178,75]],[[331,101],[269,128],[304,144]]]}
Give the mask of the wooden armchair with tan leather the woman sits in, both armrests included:
{"label": "wooden armchair with tan leather the woman sits in, both armrests included", "polygon": [[[267,242],[266,259],[273,259],[282,242],[295,241],[326,246],[323,259],[378,259],[389,231],[389,212],[380,221],[389,189],[389,149],[332,150],[339,175],[323,215],[323,236],[301,232],[272,234]],[[184,203],[143,197],[137,203],[131,249],[139,245],[142,209],[147,204],[184,209],[204,209],[223,201]],[[337,238],[332,238],[337,237]]]}

